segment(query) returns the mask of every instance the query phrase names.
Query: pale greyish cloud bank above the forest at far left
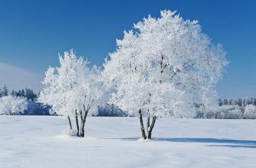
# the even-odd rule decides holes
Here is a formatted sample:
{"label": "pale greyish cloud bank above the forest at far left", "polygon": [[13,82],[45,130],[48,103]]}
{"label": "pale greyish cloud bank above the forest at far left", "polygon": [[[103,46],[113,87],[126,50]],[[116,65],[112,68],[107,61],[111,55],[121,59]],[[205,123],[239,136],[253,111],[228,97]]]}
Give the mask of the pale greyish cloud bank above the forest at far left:
{"label": "pale greyish cloud bank above the forest at far left", "polygon": [[43,74],[39,75],[26,71],[16,66],[0,62],[0,87],[5,83],[11,92],[12,89],[31,88],[38,93],[43,88],[40,81],[43,80]]}

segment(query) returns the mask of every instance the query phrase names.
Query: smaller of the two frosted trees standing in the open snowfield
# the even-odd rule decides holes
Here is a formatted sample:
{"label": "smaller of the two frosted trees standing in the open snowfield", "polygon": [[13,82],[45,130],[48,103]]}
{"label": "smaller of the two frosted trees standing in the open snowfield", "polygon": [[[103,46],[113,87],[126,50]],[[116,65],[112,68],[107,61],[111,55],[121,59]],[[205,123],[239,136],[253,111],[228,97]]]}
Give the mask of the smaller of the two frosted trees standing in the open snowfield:
{"label": "smaller of the two frosted trees standing in the open snowfield", "polygon": [[[72,129],[70,117],[76,120],[77,136],[84,137],[86,118],[97,113],[97,106],[102,102],[103,87],[100,69],[87,67],[87,60],[76,57],[73,50],[59,55],[60,66],[49,67],[45,72],[38,102],[50,105],[50,113],[66,116]],[[78,119],[81,118],[81,130]]]}

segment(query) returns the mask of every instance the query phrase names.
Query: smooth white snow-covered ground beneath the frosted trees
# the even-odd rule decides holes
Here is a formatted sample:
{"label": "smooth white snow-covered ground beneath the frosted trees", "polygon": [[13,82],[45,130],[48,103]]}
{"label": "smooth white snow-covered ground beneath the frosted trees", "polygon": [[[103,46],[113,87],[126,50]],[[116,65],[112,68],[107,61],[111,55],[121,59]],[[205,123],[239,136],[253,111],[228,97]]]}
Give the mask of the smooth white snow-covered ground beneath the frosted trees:
{"label": "smooth white snow-covered ground beneath the frosted trees", "polygon": [[138,118],[88,118],[85,138],[64,135],[67,123],[0,116],[0,168],[256,167],[256,120],[160,119],[151,141]]}

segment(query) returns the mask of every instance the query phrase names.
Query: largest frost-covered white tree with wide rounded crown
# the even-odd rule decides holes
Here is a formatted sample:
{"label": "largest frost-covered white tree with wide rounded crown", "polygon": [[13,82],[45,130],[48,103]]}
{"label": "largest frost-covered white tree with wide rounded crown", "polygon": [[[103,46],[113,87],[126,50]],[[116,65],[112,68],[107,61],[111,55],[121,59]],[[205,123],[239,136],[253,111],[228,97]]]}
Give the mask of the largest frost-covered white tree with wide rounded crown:
{"label": "largest frost-covered white tree with wide rounded crown", "polygon": [[[176,11],[175,11],[176,12]],[[139,116],[142,138],[150,139],[157,117],[194,116],[194,103],[217,104],[214,87],[228,62],[226,52],[201,32],[198,21],[161,11],[124,31],[118,49],[104,64],[110,103]],[[147,115],[147,135],[142,116]],[[152,117],[151,124],[149,123]]]}

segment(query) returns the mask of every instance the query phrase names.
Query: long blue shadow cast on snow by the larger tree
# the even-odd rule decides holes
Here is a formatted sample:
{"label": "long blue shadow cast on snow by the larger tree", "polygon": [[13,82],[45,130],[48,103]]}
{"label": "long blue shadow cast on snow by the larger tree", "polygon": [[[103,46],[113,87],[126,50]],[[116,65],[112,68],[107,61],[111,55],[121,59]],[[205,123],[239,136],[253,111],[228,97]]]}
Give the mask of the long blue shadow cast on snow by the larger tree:
{"label": "long blue shadow cast on snow by the larger tree", "polygon": [[[123,138],[104,138],[104,139],[119,139],[123,141],[138,141],[142,140],[140,137],[123,137]],[[159,138],[155,137],[150,140],[152,142],[200,142],[200,143],[218,143],[227,145],[207,145],[209,147],[234,147],[234,148],[256,148],[256,141],[253,140],[231,140],[218,138]],[[232,145],[235,144],[235,145]]]}

